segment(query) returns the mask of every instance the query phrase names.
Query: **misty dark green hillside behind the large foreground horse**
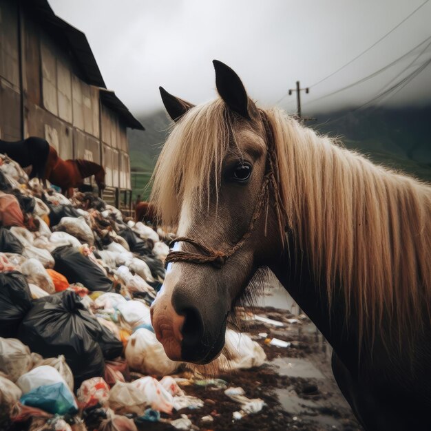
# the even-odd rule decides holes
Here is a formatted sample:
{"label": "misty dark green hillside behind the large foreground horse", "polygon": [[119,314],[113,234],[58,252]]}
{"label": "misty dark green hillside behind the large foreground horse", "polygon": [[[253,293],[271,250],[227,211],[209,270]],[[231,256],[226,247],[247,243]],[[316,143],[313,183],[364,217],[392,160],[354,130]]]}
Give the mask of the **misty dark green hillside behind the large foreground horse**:
{"label": "misty dark green hillside behind the large foreground horse", "polygon": [[[338,137],[349,149],[372,160],[431,182],[431,106],[423,108],[370,108],[315,114],[307,125],[322,134]],[[134,199],[145,189],[165,142],[169,119],[164,111],[138,117],[145,132],[128,132]]]}

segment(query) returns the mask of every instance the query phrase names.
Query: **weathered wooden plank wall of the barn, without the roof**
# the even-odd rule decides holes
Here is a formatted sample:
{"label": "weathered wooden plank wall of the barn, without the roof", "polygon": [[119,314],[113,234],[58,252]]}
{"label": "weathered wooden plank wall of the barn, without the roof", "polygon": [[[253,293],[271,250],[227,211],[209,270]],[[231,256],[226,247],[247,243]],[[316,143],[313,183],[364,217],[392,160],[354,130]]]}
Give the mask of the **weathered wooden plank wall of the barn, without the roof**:
{"label": "weathered wooden plank wall of the barn, without the roof", "polygon": [[62,43],[0,0],[0,138],[41,136],[61,158],[100,163],[107,186],[130,189],[126,127],[79,76]]}

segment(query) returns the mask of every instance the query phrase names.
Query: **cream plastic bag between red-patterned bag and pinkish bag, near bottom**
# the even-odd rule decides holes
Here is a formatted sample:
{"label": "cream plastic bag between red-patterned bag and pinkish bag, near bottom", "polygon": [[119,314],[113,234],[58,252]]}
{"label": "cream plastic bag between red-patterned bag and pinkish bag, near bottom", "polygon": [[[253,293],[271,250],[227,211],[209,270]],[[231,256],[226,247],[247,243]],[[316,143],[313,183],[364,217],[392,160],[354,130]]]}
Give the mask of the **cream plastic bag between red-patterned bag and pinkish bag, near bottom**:
{"label": "cream plastic bag between red-patterned bag and pinkish bag, near bottom", "polygon": [[109,407],[116,413],[143,414],[147,406],[145,394],[132,383],[117,381],[109,392]]}

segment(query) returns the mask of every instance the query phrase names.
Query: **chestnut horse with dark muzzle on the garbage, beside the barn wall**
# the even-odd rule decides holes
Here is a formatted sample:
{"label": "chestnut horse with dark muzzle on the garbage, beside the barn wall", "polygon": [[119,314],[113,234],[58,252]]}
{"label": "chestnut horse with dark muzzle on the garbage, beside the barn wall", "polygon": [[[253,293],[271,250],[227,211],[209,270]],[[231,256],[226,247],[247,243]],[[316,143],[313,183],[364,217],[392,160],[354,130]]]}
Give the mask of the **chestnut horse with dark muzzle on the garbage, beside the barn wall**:
{"label": "chestnut horse with dark muzzle on the garbage, beside the barn wall", "polygon": [[81,158],[63,160],[50,145],[43,180],[61,187],[61,192],[72,197],[73,189],[83,185],[84,178],[94,175],[99,190],[105,189],[105,169],[97,163]]}

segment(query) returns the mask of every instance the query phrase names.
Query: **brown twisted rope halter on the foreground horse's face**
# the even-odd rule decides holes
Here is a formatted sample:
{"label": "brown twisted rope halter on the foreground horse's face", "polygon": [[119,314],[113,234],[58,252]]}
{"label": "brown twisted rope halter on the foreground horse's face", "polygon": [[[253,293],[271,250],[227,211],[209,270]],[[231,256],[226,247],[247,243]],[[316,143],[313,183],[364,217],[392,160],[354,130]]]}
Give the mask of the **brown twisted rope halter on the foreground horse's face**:
{"label": "brown twisted rope halter on the foreground horse's face", "polygon": [[[260,190],[260,194],[257,197],[257,202],[255,209],[253,211],[253,215],[250,220],[249,228],[245,231],[242,238],[228,251],[218,251],[213,250],[204,244],[193,240],[192,238],[187,237],[178,237],[175,240],[171,241],[171,244],[175,242],[188,242],[198,249],[201,253],[192,253],[190,251],[169,251],[166,257],[166,263],[169,262],[188,262],[193,264],[211,264],[215,268],[222,268],[222,266],[227,262],[229,257],[233,255],[236,251],[238,251],[249,238],[253,229],[255,227],[255,222],[260,218],[262,213],[262,209],[265,207],[266,202],[269,200],[269,186],[272,184],[275,190],[277,191],[277,181],[275,180],[275,148],[274,148],[274,136],[273,129],[269,123],[268,116],[266,113],[259,110],[260,118],[264,123],[265,135],[266,135],[266,169],[265,175],[262,181],[262,189]],[[278,193],[275,193],[275,199],[278,200]]]}

